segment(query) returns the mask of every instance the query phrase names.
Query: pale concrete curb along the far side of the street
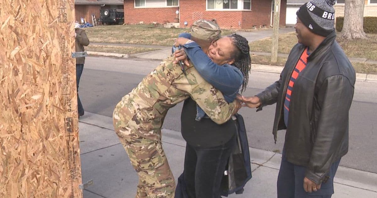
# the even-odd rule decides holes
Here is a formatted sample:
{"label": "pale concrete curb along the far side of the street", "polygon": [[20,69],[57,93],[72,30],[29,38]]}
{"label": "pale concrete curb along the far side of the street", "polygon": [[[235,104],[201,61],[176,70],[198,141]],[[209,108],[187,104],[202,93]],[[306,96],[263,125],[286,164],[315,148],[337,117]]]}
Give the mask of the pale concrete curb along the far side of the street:
{"label": "pale concrete curb along the far side of the street", "polygon": [[[142,54],[147,54],[147,53],[150,53],[150,52],[141,52],[137,55],[142,55]],[[90,55],[90,56],[132,58],[129,54],[116,54],[116,53],[107,53],[107,52],[87,51],[87,54]],[[265,65],[265,64],[251,64],[251,71],[269,72],[269,73],[280,74],[282,72],[282,70],[283,70],[282,66]],[[356,81],[377,83],[377,75],[356,73]]]}

